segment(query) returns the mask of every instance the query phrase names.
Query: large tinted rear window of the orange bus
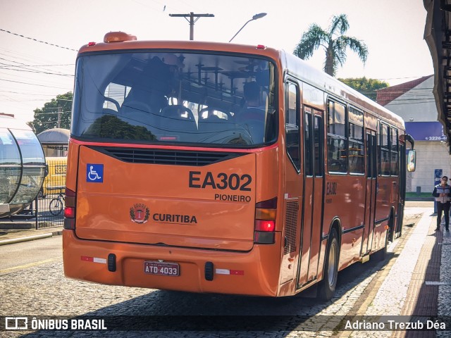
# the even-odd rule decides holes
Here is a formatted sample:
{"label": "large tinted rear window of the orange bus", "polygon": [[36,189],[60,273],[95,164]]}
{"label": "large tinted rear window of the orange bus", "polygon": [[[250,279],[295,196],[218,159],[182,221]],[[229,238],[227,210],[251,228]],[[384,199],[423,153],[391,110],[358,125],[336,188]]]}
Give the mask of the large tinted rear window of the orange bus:
{"label": "large tinted rear window of the orange bus", "polygon": [[73,137],[248,148],[277,137],[275,65],[195,52],[89,54],[77,62]]}

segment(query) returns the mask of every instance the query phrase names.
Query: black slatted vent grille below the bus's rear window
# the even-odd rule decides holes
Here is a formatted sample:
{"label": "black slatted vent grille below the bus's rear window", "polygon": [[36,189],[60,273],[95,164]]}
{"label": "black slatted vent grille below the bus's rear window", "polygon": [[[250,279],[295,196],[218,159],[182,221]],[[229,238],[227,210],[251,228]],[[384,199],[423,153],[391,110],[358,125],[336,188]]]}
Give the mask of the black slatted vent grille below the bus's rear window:
{"label": "black slatted vent grille below the bus's rear window", "polygon": [[90,146],[89,148],[123,162],[165,165],[202,166],[245,155],[244,153],[219,151],[179,151],[112,146]]}

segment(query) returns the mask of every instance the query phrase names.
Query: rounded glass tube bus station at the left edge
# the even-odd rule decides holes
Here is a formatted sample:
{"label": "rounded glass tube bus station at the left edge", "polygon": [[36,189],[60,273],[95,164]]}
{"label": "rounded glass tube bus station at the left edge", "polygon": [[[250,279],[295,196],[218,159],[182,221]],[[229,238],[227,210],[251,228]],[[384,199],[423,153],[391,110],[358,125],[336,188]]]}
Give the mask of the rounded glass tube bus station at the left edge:
{"label": "rounded glass tube bus station at the left edge", "polygon": [[31,204],[42,187],[45,168],[44,151],[31,128],[0,115],[0,218]]}

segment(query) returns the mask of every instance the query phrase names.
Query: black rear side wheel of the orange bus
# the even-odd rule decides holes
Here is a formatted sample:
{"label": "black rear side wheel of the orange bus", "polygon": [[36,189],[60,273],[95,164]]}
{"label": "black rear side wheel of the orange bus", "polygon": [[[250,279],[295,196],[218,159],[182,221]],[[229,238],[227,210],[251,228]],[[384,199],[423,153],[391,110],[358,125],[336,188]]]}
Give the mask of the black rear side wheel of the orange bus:
{"label": "black rear side wheel of the orange bus", "polygon": [[319,299],[328,301],[335,293],[338,278],[338,249],[337,232],[335,229],[330,231],[329,241],[327,244],[326,263],[324,265],[324,276],[319,287]]}

